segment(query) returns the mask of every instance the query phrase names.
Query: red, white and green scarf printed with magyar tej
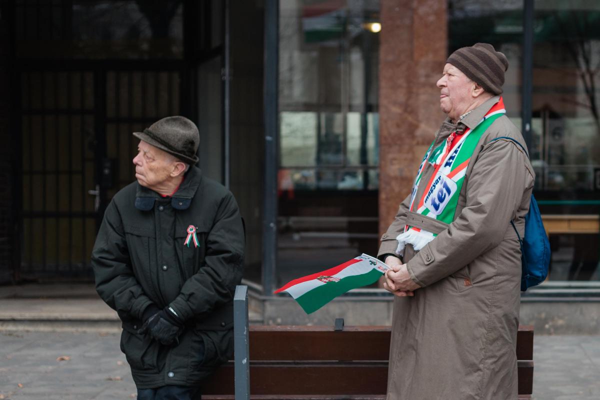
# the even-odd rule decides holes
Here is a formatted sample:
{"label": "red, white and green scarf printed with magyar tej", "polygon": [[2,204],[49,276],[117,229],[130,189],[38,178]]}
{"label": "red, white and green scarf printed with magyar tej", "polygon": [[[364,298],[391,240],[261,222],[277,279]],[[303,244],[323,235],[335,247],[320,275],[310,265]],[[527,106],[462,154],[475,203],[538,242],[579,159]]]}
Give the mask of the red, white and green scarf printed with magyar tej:
{"label": "red, white and green scarf printed with magyar tej", "polygon": [[[442,144],[433,148],[435,140],[427,149],[425,157],[421,161],[419,171],[413,184],[410,197],[410,210],[421,215],[427,215],[438,221],[450,224],[454,221],[454,214],[463,187],[464,175],[467,172],[469,161],[475,151],[475,147],[488,127],[504,115],[504,102],[502,98],[485,114],[478,125],[472,130],[466,128],[456,142],[445,140]],[[453,146],[454,144],[454,146]],[[416,199],[416,192],[422,183],[421,178],[425,164],[430,163],[434,167],[425,191],[420,199]],[[404,232],[399,234],[397,254],[404,253],[404,247],[410,243],[415,250],[422,249],[437,235],[421,228],[406,225]]]}

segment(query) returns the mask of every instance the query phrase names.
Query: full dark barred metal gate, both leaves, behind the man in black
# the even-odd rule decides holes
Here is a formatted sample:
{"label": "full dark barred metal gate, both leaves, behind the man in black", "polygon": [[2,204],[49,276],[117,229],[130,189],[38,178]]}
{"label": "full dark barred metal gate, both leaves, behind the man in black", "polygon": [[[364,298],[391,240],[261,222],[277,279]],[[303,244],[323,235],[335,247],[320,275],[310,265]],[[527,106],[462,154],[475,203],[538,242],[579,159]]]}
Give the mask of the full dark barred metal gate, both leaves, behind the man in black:
{"label": "full dark barred metal gate, both leaves, behind the man in black", "polygon": [[22,72],[20,278],[91,278],[103,210],[134,181],[131,133],[179,114],[180,78],[172,66]]}

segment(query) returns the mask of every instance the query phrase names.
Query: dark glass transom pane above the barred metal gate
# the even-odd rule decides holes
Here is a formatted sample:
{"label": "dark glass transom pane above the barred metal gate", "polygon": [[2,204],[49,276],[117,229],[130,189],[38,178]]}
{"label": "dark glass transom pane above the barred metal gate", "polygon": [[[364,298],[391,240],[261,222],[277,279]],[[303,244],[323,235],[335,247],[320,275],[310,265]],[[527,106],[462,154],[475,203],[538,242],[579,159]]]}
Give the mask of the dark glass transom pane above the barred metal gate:
{"label": "dark glass transom pane above the barred metal gate", "polygon": [[16,5],[19,58],[182,58],[179,0],[38,3]]}

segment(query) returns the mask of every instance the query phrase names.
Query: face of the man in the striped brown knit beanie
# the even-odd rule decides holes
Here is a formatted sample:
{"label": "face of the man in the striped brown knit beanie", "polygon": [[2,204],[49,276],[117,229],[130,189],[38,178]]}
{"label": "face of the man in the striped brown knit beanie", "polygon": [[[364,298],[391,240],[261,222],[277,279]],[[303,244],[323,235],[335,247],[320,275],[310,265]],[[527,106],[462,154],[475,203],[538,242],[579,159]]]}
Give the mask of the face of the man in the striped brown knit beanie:
{"label": "face of the man in the striped brown knit beanie", "polygon": [[452,120],[457,121],[473,103],[475,82],[454,65],[446,64],[437,87],[440,88],[440,108]]}

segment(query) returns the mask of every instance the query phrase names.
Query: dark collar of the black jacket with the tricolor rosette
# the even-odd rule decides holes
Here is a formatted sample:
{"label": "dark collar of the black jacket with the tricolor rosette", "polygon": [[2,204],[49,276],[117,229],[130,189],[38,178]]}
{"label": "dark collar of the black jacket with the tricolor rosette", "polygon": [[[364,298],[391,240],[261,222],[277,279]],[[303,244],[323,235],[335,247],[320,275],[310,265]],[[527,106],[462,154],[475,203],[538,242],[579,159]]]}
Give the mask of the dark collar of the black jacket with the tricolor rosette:
{"label": "dark collar of the black jacket with the tricolor rosette", "polygon": [[[171,206],[176,210],[185,210],[190,207],[191,200],[194,198],[200,182],[202,182],[202,171],[194,166],[190,166],[190,170],[185,173],[185,179],[181,186],[173,194],[173,197],[171,197]],[[151,210],[157,199],[162,199],[160,194],[143,187],[139,183],[137,184],[135,206],[138,210]]]}

